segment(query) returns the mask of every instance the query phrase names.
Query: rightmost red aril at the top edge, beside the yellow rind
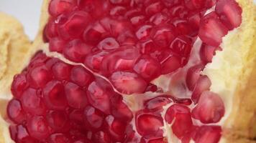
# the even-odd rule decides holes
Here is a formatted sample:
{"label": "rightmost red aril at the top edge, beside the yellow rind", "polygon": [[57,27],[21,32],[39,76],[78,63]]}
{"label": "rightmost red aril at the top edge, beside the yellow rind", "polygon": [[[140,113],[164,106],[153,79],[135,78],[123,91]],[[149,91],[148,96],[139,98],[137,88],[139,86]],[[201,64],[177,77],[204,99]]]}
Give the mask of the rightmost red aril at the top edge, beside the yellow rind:
{"label": "rightmost red aril at the top edge, beside the yellow rind", "polygon": [[215,11],[229,30],[237,28],[242,23],[242,9],[235,0],[217,1]]}

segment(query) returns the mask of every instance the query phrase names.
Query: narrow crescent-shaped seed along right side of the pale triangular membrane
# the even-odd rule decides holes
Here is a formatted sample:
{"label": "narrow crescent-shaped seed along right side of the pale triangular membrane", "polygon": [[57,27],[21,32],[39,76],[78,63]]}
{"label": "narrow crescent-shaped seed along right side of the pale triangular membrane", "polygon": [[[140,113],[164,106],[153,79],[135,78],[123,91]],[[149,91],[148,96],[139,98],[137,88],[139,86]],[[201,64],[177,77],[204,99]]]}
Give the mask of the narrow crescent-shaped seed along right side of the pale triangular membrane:
{"label": "narrow crescent-shaped seed along right side of the pale triangular membrane", "polygon": [[186,75],[186,84],[188,89],[193,91],[193,89],[196,87],[196,82],[198,81],[200,77],[200,72],[204,69],[204,66],[201,64],[198,64],[196,66],[192,66],[190,69],[188,69],[188,73]]}

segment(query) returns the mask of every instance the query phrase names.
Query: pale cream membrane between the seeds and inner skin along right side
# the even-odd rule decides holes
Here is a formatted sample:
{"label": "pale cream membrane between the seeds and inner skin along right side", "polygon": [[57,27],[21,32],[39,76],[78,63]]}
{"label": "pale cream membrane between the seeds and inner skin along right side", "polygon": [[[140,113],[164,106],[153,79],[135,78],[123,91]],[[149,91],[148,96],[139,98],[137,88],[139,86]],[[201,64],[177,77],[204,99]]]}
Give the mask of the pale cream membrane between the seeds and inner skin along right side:
{"label": "pale cream membrane between the seeds and inner skin along right side", "polygon": [[[253,22],[250,21],[250,16],[248,16],[247,15],[248,13],[246,12],[248,9],[251,8],[250,6],[248,6],[250,2],[249,1],[242,2],[242,1],[243,0],[239,0],[239,4],[241,4],[241,6],[243,7],[243,13],[242,13],[243,19],[242,19],[241,26],[239,26],[239,28],[237,29],[234,29],[233,31],[230,31],[229,34],[227,34],[227,36],[224,37],[223,42],[221,44],[221,48],[223,49],[223,51],[217,52],[216,56],[214,56],[212,63],[207,64],[206,69],[204,69],[203,71],[203,74],[206,74],[211,79],[211,82],[212,82],[211,92],[215,92],[219,94],[221,99],[223,99],[224,101],[225,115],[220,122],[216,123],[216,125],[220,125],[224,129],[231,127],[231,125],[234,123],[234,119],[229,118],[232,112],[236,111],[238,108],[233,106],[234,94],[236,92],[237,85],[239,84],[239,82],[242,82],[239,79],[241,77],[242,70],[244,69],[244,65],[245,65],[244,62],[246,62],[244,61],[244,59],[248,55],[248,52],[250,49],[250,42],[248,43],[247,41],[248,39],[251,39],[250,36],[254,32],[251,29],[249,30],[247,29],[247,27],[250,27],[253,25]],[[40,35],[42,36],[42,33]],[[40,38],[42,38],[41,36]],[[37,42],[42,43],[41,40]],[[65,59],[60,54],[57,54],[55,52],[49,52],[47,50],[47,47],[48,47],[47,44],[41,44],[41,46],[38,46],[39,44],[35,44],[35,45],[37,45],[37,48],[32,49],[30,51],[30,53],[28,54],[29,56],[27,56],[27,59],[29,59],[28,57],[31,57],[35,53],[35,51],[42,49],[45,52],[45,54],[47,54],[47,56],[58,57],[60,60],[68,64],[77,65],[77,63],[74,63],[72,61]],[[166,94],[175,93],[175,95],[178,95],[179,98],[191,96],[191,92],[189,92],[187,89],[180,88],[181,84],[185,84],[185,79],[179,79],[180,82],[173,82],[173,81],[177,80],[175,79],[175,75],[180,75],[180,74],[186,75],[186,70],[189,67],[198,63],[198,60],[199,60],[198,52],[199,52],[200,45],[201,45],[201,40],[197,39],[191,54],[193,56],[191,56],[191,59],[188,62],[188,65],[186,65],[183,69],[179,69],[178,71],[175,71],[175,73],[173,74],[163,75],[161,77],[158,77],[157,79],[152,81],[152,83],[156,84],[157,87],[162,88]],[[83,64],[79,64],[79,65],[84,66]],[[90,69],[88,70],[91,71]],[[93,74],[96,76],[102,77],[99,74],[96,74],[96,73],[93,73]],[[185,78],[185,76],[183,76],[183,78]],[[10,92],[9,89],[10,88],[6,90],[4,89],[0,90],[0,102],[8,101],[9,99],[12,99],[12,93]],[[160,94],[163,94],[163,93],[160,93]],[[147,92],[144,94],[144,96],[148,98],[152,98],[160,94]],[[129,107],[133,111],[142,108],[140,107],[140,102],[142,102],[142,100],[138,98],[141,96],[142,95],[130,95],[130,96],[123,95],[125,102],[129,105]],[[164,107],[165,110],[162,113],[163,117],[168,107],[170,107],[170,105],[171,104],[168,104],[167,106]],[[193,108],[194,106],[195,105],[192,104],[191,108]],[[196,124],[201,124],[201,123],[197,121]],[[177,137],[175,137],[175,135],[172,133],[170,125],[171,124],[167,124],[165,122],[163,127],[164,137],[167,137],[168,142],[170,143],[180,142],[180,140]],[[9,123],[2,118],[0,118],[0,129],[1,127],[4,130],[3,131],[4,141],[0,139],[0,143],[12,143],[13,141],[9,137],[9,129],[8,129]],[[226,142],[226,140],[222,137],[220,142]]]}

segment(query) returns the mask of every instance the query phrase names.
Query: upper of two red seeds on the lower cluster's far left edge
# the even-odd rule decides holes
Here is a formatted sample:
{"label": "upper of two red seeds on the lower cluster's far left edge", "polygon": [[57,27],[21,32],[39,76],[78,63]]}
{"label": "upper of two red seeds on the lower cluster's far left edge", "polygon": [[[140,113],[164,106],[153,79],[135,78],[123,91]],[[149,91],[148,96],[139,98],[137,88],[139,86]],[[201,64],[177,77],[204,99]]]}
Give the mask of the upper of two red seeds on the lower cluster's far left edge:
{"label": "upper of two red seeds on the lower cluster's far left edge", "polygon": [[12,94],[14,97],[19,98],[27,87],[28,84],[25,75],[18,74],[14,77],[14,82],[12,82]]}

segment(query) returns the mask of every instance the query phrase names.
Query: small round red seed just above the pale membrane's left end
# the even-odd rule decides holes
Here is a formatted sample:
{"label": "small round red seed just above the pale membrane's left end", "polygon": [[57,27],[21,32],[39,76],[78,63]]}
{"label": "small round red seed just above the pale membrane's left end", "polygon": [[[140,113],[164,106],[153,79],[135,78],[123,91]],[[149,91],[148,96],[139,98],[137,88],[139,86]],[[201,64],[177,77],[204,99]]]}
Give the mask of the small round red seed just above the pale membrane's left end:
{"label": "small round red seed just above the pale membrane's left end", "polygon": [[63,39],[60,39],[58,37],[55,37],[50,40],[49,42],[49,49],[50,51],[63,51],[63,48],[65,47],[65,41]]}

